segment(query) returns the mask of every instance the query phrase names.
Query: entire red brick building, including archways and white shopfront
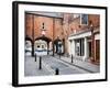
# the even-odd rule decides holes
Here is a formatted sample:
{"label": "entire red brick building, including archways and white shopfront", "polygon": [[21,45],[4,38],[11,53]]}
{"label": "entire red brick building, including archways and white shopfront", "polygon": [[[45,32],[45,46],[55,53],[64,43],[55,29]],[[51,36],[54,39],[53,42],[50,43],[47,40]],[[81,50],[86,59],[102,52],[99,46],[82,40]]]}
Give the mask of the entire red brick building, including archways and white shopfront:
{"label": "entire red brick building, including archways and white shopfront", "polygon": [[62,54],[99,62],[99,35],[98,14],[25,12],[25,40],[31,41],[33,50],[61,50]]}

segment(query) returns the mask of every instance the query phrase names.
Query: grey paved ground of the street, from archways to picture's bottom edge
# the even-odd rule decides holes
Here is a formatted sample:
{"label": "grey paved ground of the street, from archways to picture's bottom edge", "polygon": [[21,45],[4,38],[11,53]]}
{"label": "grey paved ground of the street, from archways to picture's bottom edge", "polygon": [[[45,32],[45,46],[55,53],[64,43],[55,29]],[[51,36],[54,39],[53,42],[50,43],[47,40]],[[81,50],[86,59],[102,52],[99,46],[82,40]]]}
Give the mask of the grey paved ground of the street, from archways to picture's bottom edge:
{"label": "grey paved ground of the street, from archways to picture's bottom edge", "polygon": [[42,69],[40,69],[40,57],[25,56],[24,62],[24,75],[25,76],[47,76],[55,75],[58,68],[59,75],[73,75],[73,74],[89,74],[99,73],[99,66],[89,64],[87,62],[74,59],[70,63],[70,58],[55,55],[42,56]]}

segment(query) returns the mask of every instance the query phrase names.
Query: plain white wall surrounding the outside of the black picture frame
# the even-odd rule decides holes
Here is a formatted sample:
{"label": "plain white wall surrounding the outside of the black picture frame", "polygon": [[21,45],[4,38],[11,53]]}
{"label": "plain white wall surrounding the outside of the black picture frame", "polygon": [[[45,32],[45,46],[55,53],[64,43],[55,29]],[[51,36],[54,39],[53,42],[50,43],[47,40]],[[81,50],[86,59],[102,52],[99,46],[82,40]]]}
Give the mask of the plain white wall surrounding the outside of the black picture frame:
{"label": "plain white wall surrounding the outside of the black picture frame", "polygon": [[[25,1],[25,0],[24,0]],[[26,0],[29,1],[29,0]],[[34,0],[37,2],[110,6],[110,0]],[[0,1],[0,88],[12,88],[12,0]],[[109,7],[110,8],[110,7]],[[110,9],[109,9],[110,10]],[[109,14],[110,15],[110,12]],[[110,23],[110,18],[108,18]],[[110,26],[109,26],[110,29]],[[110,32],[108,32],[110,33]],[[110,34],[109,34],[110,37]],[[109,44],[110,45],[110,41]],[[109,48],[109,47],[108,47]],[[110,57],[110,54],[109,54]],[[109,58],[108,57],[108,58]],[[108,59],[110,63],[110,59]],[[110,67],[110,64],[109,64]],[[110,69],[109,69],[110,74]],[[110,78],[110,77],[109,77]],[[26,88],[26,87],[25,87]],[[33,88],[33,87],[29,87]],[[34,88],[45,88],[38,86]],[[46,86],[46,88],[110,88],[109,81]]]}

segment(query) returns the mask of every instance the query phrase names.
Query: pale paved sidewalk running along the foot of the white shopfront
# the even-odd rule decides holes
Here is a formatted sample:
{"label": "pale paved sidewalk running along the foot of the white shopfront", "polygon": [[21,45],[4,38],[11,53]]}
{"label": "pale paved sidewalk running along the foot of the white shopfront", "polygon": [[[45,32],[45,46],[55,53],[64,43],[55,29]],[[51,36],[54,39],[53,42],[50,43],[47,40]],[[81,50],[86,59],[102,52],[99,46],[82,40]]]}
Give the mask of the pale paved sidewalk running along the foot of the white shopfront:
{"label": "pale paved sidewalk running along the foot of the white shopfront", "polygon": [[61,56],[61,58],[59,58],[59,56],[56,55],[55,57],[58,58],[58,59],[62,59],[64,62],[67,62],[72,65],[75,65],[79,68],[86,69],[90,73],[100,73],[100,65],[95,65],[95,64],[91,64],[90,62],[85,62],[85,61],[80,61],[80,59],[77,59],[77,58],[73,58],[73,63],[72,63],[72,58],[66,57],[66,56]]}

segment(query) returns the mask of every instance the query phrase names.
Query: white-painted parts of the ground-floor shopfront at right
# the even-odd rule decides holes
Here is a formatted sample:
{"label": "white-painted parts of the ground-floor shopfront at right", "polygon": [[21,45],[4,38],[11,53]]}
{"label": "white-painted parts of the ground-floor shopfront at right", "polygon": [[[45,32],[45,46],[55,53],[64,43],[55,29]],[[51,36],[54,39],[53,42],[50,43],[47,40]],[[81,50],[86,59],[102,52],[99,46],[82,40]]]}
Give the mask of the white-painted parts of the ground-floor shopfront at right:
{"label": "white-painted parts of the ground-floor shopfront at right", "polygon": [[[95,34],[95,54],[97,41],[100,41],[99,29],[94,31]],[[69,41],[69,55],[76,58],[87,61],[91,57],[91,31],[89,29],[72,34],[68,37]],[[99,44],[99,43],[98,43]],[[98,50],[99,51],[99,50]],[[96,55],[95,55],[96,56]]]}

